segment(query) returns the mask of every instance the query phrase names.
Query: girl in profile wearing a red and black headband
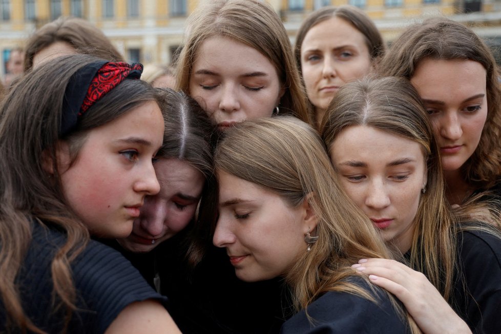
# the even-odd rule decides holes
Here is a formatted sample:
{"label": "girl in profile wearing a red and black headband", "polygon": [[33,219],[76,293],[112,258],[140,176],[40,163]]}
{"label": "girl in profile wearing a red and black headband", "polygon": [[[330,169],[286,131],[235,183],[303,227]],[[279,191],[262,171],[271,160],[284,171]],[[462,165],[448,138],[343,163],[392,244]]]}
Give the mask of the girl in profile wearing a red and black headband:
{"label": "girl in profile wearing a red and black headband", "polygon": [[128,236],[159,190],[163,117],[141,69],[61,57],[5,97],[0,331],[178,332],[137,270],[89,240]]}

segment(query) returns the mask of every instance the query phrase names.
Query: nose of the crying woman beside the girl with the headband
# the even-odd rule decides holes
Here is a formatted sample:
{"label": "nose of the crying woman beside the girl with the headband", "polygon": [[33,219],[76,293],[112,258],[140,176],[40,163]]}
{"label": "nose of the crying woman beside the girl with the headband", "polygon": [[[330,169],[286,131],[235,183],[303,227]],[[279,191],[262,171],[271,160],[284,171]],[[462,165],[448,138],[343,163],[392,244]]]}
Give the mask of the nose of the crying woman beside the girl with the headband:
{"label": "nose of the crying woman beside the girl with the headband", "polygon": [[156,201],[155,196],[148,196],[144,199],[144,205],[141,207],[140,226],[148,235],[160,237],[167,217],[165,203]]}

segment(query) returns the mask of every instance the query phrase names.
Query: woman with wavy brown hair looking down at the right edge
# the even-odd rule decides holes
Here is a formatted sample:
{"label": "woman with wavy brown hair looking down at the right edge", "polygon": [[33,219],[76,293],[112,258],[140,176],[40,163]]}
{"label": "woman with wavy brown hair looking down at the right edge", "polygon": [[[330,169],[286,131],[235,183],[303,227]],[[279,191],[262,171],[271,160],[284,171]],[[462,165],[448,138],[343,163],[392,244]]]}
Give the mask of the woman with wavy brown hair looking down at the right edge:
{"label": "woman with wavy brown hair looking down at the right edge", "polygon": [[409,79],[424,100],[449,202],[489,189],[501,198],[501,88],[485,43],[461,23],[430,18],[392,43],[380,70]]}

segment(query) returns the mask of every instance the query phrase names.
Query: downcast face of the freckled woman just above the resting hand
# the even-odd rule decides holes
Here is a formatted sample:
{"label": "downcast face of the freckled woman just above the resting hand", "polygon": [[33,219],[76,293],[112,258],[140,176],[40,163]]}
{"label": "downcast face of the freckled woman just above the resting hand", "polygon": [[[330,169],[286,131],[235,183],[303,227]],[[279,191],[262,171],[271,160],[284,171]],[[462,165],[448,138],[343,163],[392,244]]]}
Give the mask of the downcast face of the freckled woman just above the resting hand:
{"label": "downcast face of the freckled woman just above the resting hand", "polygon": [[372,127],[351,126],[338,135],[329,155],[348,196],[385,241],[406,252],[427,181],[420,144]]}

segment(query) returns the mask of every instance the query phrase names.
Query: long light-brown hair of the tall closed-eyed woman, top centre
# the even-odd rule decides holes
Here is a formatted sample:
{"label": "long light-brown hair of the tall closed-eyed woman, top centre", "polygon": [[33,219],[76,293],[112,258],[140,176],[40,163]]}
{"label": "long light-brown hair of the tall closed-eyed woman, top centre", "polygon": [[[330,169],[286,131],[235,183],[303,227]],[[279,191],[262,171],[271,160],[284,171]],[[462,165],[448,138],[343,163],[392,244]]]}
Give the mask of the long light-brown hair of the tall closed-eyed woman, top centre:
{"label": "long light-brown hair of the tall closed-eyed woman, top centre", "polygon": [[310,122],[307,97],[290,40],[280,17],[269,4],[260,0],[216,0],[197,8],[188,20],[177,64],[177,89],[190,94],[193,64],[202,43],[207,38],[226,37],[256,49],[275,67],[285,89],[280,113]]}

